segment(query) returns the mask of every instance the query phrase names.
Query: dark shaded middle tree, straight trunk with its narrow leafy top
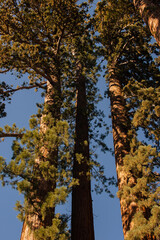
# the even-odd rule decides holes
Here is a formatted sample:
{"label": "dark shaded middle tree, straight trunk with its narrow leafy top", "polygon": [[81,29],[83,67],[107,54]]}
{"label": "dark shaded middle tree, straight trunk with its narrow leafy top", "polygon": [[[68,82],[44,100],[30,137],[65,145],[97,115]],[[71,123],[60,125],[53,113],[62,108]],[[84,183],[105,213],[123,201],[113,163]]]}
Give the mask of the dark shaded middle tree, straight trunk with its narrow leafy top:
{"label": "dark shaded middle tree, straight trunk with its narrow leafy top", "polygon": [[[91,198],[91,159],[89,150],[89,105],[87,104],[87,75],[96,64],[90,34],[76,39],[76,125],[73,177],[78,185],[72,190],[71,239],[94,240]],[[88,41],[87,41],[88,40]],[[87,55],[86,55],[87,54]],[[92,54],[92,55],[91,55]],[[93,93],[92,93],[93,94]]]}

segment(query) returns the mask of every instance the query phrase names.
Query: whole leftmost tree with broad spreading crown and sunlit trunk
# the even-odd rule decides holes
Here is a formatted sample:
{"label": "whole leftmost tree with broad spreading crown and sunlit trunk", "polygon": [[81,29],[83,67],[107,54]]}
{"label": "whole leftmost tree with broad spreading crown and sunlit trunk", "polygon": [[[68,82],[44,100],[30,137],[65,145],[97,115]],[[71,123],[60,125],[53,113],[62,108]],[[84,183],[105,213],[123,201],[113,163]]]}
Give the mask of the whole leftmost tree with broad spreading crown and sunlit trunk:
{"label": "whole leftmost tree with broad spreading crown and sunlit trunk", "polygon": [[[33,131],[21,134],[22,144],[27,144],[30,149],[25,150],[15,141],[13,145],[15,161],[11,161],[8,166],[6,163],[3,165],[2,178],[10,176],[12,179],[20,176],[24,179],[22,183],[18,183],[18,180],[14,182],[26,197],[26,206],[22,209],[26,216],[21,240],[50,239],[53,236],[56,238],[56,234],[61,234],[58,228],[59,220],[54,216],[55,204],[63,202],[66,197],[66,190],[63,187],[62,194],[60,189],[56,190],[57,171],[60,168],[58,148],[65,138],[63,132],[66,131],[66,124],[60,120],[61,80],[68,64],[67,39],[81,31],[77,26],[80,25],[83,14],[80,14],[75,2],[3,1],[0,4],[1,69],[29,74],[30,83],[22,84],[17,90],[42,86],[42,79],[47,88],[39,136],[36,135],[37,130],[35,133]],[[14,89],[10,92],[14,92]],[[33,128],[36,122],[33,118],[31,121]],[[14,132],[12,135],[17,136],[15,129],[6,130],[5,133],[1,129],[1,136],[6,134],[11,136],[12,132]],[[21,130],[18,134],[20,133]],[[59,134],[62,137],[59,137]],[[32,157],[29,162],[33,146],[27,143],[28,138],[35,144],[38,143],[38,139],[40,141],[37,144],[38,148],[34,146],[35,159]],[[25,151],[28,155],[24,154]],[[19,165],[21,167],[18,168]],[[32,170],[29,170],[30,168]],[[31,173],[34,176],[31,176]],[[19,205],[18,208],[21,210],[22,207]],[[38,229],[35,231],[37,237],[31,229]],[[59,239],[61,237],[65,238],[63,231]]]}

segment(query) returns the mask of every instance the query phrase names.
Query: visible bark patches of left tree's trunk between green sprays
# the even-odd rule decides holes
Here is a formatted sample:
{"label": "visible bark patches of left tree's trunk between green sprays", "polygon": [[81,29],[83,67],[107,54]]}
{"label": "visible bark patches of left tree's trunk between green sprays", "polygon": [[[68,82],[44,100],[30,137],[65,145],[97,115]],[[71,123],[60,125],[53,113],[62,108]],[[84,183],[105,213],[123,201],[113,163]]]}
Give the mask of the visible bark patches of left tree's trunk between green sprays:
{"label": "visible bark patches of left tree's trunk between green sprays", "polygon": [[[51,114],[55,120],[58,120],[60,117],[60,81],[58,77],[52,77],[52,81],[54,82],[54,86],[48,81],[47,82],[47,92],[45,96],[45,107],[44,107],[44,114],[41,117],[41,123],[40,123],[40,132],[45,133],[48,129],[48,125],[45,122],[45,117],[47,114]],[[40,152],[43,155],[43,161],[45,161],[45,158],[47,158],[48,150],[43,147],[40,149]],[[49,153],[50,157],[50,164],[55,165],[57,167],[57,157],[58,157],[58,148],[53,148],[52,152]],[[47,159],[48,160],[48,159]],[[35,163],[38,164],[41,161],[41,158],[35,159]],[[54,182],[46,181],[44,179],[40,180],[39,186],[38,186],[38,196],[41,201],[45,198],[48,192],[52,191],[54,192],[54,189],[56,188],[56,178]],[[49,209],[48,214],[46,215],[46,218],[44,219],[43,223],[41,223],[38,215],[27,215],[26,220],[24,221],[22,232],[21,232],[21,238],[20,240],[38,240],[35,237],[35,230],[38,229],[40,226],[51,226],[52,225],[52,219],[55,214],[55,208]]]}

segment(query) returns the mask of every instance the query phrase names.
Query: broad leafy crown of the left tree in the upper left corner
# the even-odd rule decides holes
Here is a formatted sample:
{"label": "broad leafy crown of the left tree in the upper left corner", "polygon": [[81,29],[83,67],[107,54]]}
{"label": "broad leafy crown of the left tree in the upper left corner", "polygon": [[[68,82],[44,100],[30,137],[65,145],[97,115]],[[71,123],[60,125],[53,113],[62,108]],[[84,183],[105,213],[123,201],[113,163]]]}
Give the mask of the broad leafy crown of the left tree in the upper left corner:
{"label": "broad leafy crown of the left tree in the upper left corner", "polygon": [[0,67],[51,82],[52,75],[59,75],[57,65],[67,54],[67,40],[83,31],[85,10],[75,3],[0,1]]}

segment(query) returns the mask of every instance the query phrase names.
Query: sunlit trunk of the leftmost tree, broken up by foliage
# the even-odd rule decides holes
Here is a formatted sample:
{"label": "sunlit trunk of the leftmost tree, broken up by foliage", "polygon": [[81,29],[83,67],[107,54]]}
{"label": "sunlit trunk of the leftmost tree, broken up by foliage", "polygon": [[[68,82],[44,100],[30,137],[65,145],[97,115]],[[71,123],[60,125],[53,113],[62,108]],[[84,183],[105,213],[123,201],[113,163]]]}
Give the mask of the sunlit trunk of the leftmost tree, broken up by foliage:
{"label": "sunlit trunk of the leftmost tree, broken up by foliage", "polygon": [[[53,85],[47,81],[47,92],[45,95],[45,108],[44,113],[41,116],[40,120],[40,132],[41,134],[45,135],[49,132],[49,130],[56,126],[57,121],[60,120],[60,106],[61,106],[61,86],[60,86],[60,76],[52,76],[52,80],[54,81],[54,88]],[[50,119],[49,119],[50,118]],[[53,122],[51,123],[51,119],[53,118]],[[41,137],[43,138],[43,137]],[[42,140],[43,141],[43,140]],[[44,202],[46,196],[50,192],[54,192],[56,189],[56,169],[58,164],[58,145],[56,142],[52,142],[52,147],[47,147],[49,145],[49,141],[46,140],[46,143],[43,142],[43,146],[40,149],[40,156],[35,159],[35,167],[39,168],[41,162],[48,162],[48,168],[52,167],[55,168],[55,176],[50,179],[44,175],[39,180],[39,189],[36,189],[36,201]],[[41,171],[41,170],[40,170]],[[32,191],[32,188],[31,188]],[[35,195],[35,193],[34,193]],[[32,196],[31,196],[32,198]],[[36,202],[35,201],[35,202]],[[34,202],[34,204],[35,204]],[[48,208],[47,212],[45,213],[45,218],[43,220],[43,226],[51,226],[52,220],[55,216],[55,207]],[[35,229],[38,229],[42,224],[39,220],[39,216],[35,216],[32,214],[26,214],[26,219],[23,225],[21,239],[35,239],[34,232]],[[32,229],[32,231],[31,231]]]}

